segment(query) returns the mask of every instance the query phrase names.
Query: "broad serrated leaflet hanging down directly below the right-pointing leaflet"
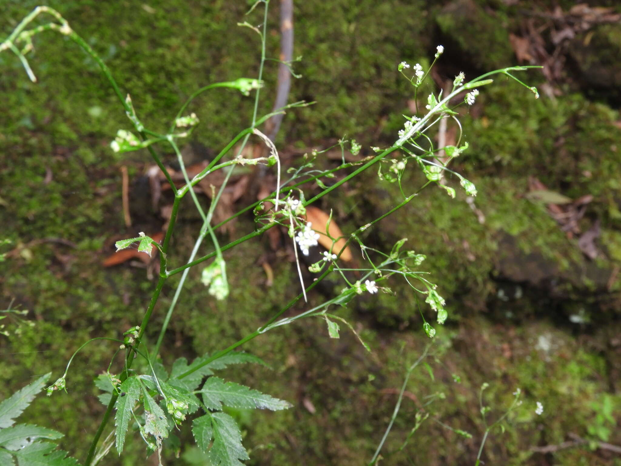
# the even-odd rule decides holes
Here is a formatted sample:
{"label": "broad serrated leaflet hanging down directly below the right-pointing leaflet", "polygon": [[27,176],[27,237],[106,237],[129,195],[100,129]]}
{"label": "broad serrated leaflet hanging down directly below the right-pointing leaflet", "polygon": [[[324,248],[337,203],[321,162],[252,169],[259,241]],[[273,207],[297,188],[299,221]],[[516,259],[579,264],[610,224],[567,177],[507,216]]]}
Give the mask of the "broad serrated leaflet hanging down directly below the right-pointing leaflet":
{"label": "broad serrated leaflet hanging down directly below the right-pointing leaflet", "polygon": [[209,460],[213,466],[243,466],[240,460],[248,460],[248,453],[242,445],[242,434],[235,420],[228,414],[213,413],[214,443],[209,449]]}

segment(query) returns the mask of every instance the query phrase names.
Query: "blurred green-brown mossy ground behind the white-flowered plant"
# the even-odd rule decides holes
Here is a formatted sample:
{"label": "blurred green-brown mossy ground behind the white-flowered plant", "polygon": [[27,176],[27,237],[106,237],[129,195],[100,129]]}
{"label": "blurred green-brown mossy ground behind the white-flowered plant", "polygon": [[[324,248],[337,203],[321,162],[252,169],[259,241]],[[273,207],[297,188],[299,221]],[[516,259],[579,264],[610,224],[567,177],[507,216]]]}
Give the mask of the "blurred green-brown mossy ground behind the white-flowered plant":
{"label": "blurred green-brown mossy ground behind the white-flowered plant", "polygon": [[[0,2],[1,36],[37,4]],[[256,73],[256,35],[235,25],[245,21],[245,2],[48,4],[101,54],[150,127],[168,126],[179,102],[195,89]],[[317,104],[289,113],[277,144],[327,146],[343,135],[355,137],[367,152],[370,145],[390,144],[412,98],[396,63],[424,63],[437,43],[446,47],[448,64],[438,68],[446,76],[512,64],[506,35],[517,14],[502,2],[477,5],[495,16],[481,19],[485,27],[456,34],[456,28],[473,22],[458,14],[459,4],[296,4],[295,55],[303,57],[296,71],[303,77],[294,81],[290,101]],[[256,14],[250,18],[259,21]],[[276,55],[276,7],[267,37]],[[491,52],[484,53],[487,46],[481,43]],[[11,240],[0,252],[19,252],[1,264],[0,308],[15,299],[13,305],[28,309],[27,319],[34,322],[21,326],[19,334],[0,336],[0,398],[35,375],[50,370],[53,377],[60,375],[84,340],[117,337],[137,324],[154,286],[143,269],[101,267],[114,235],[135,235],[123,223],[119,167],[126,165],[135,178],[149,163],[148,154],[109,150],[116,130],[129,129],[129,123],[96,63],[57,34],[37,38],[35,47],[36,84],[27,80],[16,57],[0,54],[0,224],[1,237]],[[264,112],[271,108],[275,70],[274,62],[266,68]],[[525,79],[543,83],[537,73]],[[428,399],[434,400],[425,408],[431,418],[473,435],[466,439],[428,419],[384,464],[473,464],[484,431],[478,390],[487,382],[492,419],[509,405],[516,387],[525,394],[524,408],[511,418],[507,432],[489,437],[488,464],[618,465],[619,457],[589,445],[553,455],[535,454],[530,447],[561,444],[570,434],[621,444],[615,427],[619,412],[610,408],[621,405],[621,285],[614,280],[621,261],[619,112],[579,86],[535,100],[515,83],[501,81],[488,86],[476,109],[463,114],[470,148],[453,166],[476,184],[476,208],[485,221],[479,222],[461,193],[451,201],[444,191],[430,188],[365,232],[368,245],[390,249],[407,237],[409,249],[427,255],[422,267],[432,273],[450,313],[445,327],[437,328],[437,360],[410,378],[412,397],[404,401],[384,451],[401,447],[418,407]],[[202,121],[194,140],[218,150],[246,126],[252,101],[215,91],[204,94],[193,110]],[[581,226],[586,230],[595,219],[601,222],[599,258],[584,258],[577,240],[568,239],[545,205],[525,198],[528,176],[572,199],[594,196]],[[404,179],[412,189],[422,181],[415,170]],[[448,183],[458,187],[453,178]],[[381,184],[376,173],[365,173],[345,190],[347,196],[334,192],[320,203],[334,209],[345,232],[391,208],[399,196],[396,186]],[[184,209],[191,208],[188,200]],[[172,257],[188,256],[196,228],[182,214]],[[252,217],[242,217],[236,228],[250,231]],[[50,238],[75,247],[34,242]],[[265,286],[260,261],[268,252],[268,240],[256,239],[227,254],[232,293],[225,303],[207,295],[199,270],[189,274],[165,342],[165,363],[226,347],[296,295],[294,264],[284,254],[271,261],[274,284]],[[166,285],[153,328],[163,320],[175,285],[174,279]],[[391,286],[396,297],[359,299],[338,310],[371,345],[372,355],[344,329],[340,339],[329,339],[319,319],[281,327],[245,345],[272,369],[235,368],[227,377],[294,403],[278,413],[231,413],[242,424],[252,457],[248,464],[368,462],[406,367],[428,340],[410,291]],[[17,328],[15,321],[8,325]],[[24,416],[65,433],[61,445],[80,459],[104,411],[92,379],[106,369],[112,352],[111,345],[100,342],[86,347],[68,376],[68,395],[40,398]],[[544,404],[545,415],[534,414],[535,401]],[[179,435],[186,438],[188,432]],[[143,445],[134,437],[126,455],[112,454],[106,464],[142,464]],[[198,456],[188,450],[182,459],[170,453],[166,459],[183,464]]]}

